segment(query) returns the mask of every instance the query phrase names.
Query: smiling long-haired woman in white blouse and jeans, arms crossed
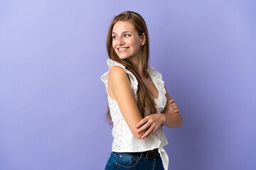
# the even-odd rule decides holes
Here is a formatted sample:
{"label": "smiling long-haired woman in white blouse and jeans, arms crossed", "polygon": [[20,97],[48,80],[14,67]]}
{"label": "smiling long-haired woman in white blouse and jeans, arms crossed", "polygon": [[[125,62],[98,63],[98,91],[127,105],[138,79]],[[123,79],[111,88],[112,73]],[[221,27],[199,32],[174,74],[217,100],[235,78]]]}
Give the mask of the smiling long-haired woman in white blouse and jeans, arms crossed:
{"label": "smiling long-haired woman in white blouse and jeans, arms crossed", "polygon": [[161,74],[148,64],[149,35],[139,13],[125,11],[114,18],[107,52],[109,70],[100,79],[114,141],[105,169],[168,169],[162,125],[178,128],[183,120]]}

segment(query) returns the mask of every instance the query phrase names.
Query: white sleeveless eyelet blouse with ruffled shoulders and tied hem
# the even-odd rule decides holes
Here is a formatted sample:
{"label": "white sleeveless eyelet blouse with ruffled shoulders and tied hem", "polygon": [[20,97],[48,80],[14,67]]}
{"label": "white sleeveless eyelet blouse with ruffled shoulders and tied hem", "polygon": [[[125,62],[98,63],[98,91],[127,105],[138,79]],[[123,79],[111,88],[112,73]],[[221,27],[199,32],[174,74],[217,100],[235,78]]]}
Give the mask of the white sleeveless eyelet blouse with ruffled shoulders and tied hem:
{"label": "white sleeveless eyelet blouse with ruffled shoulders and tied hem", "polygon": [[[127,72],[131,81],[134,98],[137,101],[136,93],[138,89],[138,81],[134,74],[129,72],[129,70],[124,67],[124,65],[120,64],[119,62],[115,62],[114,60],[107,59],[107,64],[109,70],[100,77],[100,79],[105,84],[105,92],[107,93],[107,77],[110,69],[116,65],[122,67],[124,71]],[[156,86],[156,89],[159,91],[158,98],[154,97],[154,99],[156,102],[157,113],[161,113],[164,110],[167,101],[165,96],[166,90],[164,89],[164,81],[162,80],[161,74],[157,72],[156,69],[154,69],[154,67],[152,67],[150,64],[147,71],[154,85]],[[159,154],[164,164],[164,169],[167,170],[169,157],[163,147],[164,145],[168,144],[168,141],[166,140],[163,129],[159,128],[159,130],[157,130],[154,134],[149,137],[145,137],[144,139],[138,139],[137,137],[134,137],[127,123],[125,122],[124,117],[122,116],[117,101],[114,101],[114,99],[110,98],[108,94],[107,98],[110,107],[110,115],[113,122],[112,135],[114,140],[112,142],[112,152],[144,152],[147,150],[159,148]]]}

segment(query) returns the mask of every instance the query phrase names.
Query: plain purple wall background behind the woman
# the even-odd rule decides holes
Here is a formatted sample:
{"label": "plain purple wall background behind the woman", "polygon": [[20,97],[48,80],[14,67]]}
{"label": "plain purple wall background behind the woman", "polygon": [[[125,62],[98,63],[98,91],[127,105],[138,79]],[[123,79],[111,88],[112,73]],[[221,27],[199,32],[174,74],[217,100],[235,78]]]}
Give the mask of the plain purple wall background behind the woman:
{"label": "plain purple wall background behind the woman", "polygon": [[183,116],[169,169],[256,169],[256,2],[0,2],[0,169],[104,169],[112,134],[105,39],[137,11]]}

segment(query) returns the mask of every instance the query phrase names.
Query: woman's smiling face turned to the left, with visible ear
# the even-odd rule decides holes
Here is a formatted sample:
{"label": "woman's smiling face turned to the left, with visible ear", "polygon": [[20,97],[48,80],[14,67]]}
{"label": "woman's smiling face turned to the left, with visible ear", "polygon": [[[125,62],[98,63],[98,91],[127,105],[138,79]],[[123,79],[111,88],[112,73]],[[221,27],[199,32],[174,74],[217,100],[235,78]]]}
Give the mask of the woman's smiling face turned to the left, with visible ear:
{"label": "woman's smiling face turned to the left, with visible ear", "polygon": [[112,29],[112,47],[120,59],[137,58],[145,43],[144,33],[139,35],[129,21],[117,21]]}

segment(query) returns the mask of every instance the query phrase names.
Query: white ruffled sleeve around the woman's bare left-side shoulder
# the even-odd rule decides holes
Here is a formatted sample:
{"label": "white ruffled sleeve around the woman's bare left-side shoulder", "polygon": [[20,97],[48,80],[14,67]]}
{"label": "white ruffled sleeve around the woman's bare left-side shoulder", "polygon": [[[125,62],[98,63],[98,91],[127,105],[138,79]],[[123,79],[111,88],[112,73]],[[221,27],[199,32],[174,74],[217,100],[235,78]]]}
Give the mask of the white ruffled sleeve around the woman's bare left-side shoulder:
{"label": "white ruffled sleeve around the woman's bare left-side shoulder", "polygon": [[131,81],[131,85],[132,85],[132,90],[134,92],[134,96],[136,98],[136,93],[138,90],[138,81],[136,79],[136,77],[134,76],[134,74],[132,74],[132,72],[130,72],[128,69],[126,69],[126,67],[122,64],[120,64],[119,62],[115,62],[114,60],[111,59],[107,59],[107,65],[108,65],[108,71],[105,72],[105,74],[103,74],[100,79],[103,81],[103,83],[105,84],[105,92],[107,93],[107,78],[108,78],[108,74],[110,72],[110,69],[115,65],[115,66],[119,66],[122,67],[122,69],[124,69],[125,72],[127,72],[128,77]]}

